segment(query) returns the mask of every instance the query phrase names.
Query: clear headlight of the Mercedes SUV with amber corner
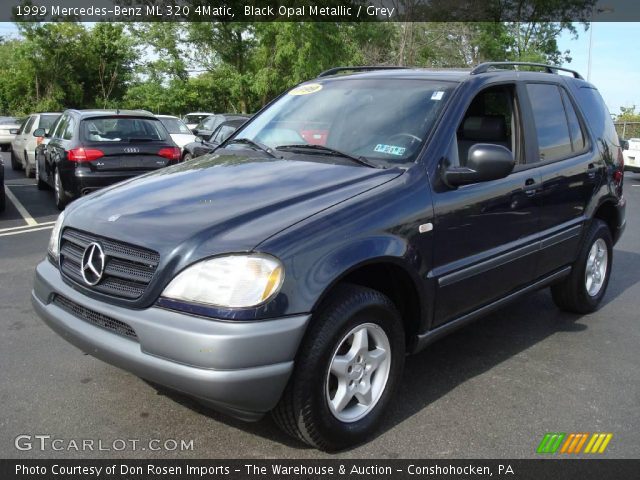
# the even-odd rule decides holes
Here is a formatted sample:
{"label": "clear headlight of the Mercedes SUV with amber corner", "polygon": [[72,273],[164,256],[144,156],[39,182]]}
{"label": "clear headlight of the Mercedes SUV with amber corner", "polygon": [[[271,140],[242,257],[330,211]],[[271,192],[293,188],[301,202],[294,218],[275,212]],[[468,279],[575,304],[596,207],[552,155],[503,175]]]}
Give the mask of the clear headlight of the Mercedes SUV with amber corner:
{"label": "clear headlight of the Mercedes SUV with amber corner", "polygon": [[253,307],[282,285],[280,261],[263,254],[230,255],[198,262],[174,278],[163,297],[220,307]]}

